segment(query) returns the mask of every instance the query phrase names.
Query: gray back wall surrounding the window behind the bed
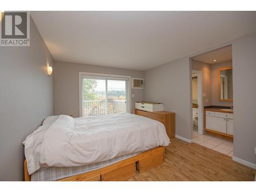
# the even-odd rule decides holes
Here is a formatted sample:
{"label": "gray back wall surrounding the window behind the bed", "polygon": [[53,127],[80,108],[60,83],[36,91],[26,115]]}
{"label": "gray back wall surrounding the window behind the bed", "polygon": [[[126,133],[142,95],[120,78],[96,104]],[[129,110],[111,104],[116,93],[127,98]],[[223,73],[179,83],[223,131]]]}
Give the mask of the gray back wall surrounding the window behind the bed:
{"label": "gray back wall surrounding the window behind the bed", "polygon": [[[144,78],[144,72],[80,63],[55,61],[55,115],[79,117],[79,72],[125,75]],[[144,98],[144,89],[132,89],[132,113],[136,101]]]}

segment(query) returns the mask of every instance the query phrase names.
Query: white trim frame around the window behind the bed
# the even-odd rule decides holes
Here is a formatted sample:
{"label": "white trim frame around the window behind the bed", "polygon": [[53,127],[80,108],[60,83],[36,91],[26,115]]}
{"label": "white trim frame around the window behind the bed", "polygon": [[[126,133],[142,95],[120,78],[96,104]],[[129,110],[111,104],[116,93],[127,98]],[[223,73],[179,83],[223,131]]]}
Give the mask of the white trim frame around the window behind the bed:
{"label": "white trim frame around the window behind the bed", "polygon": [[132,111],[132,77],[125,75],[113,75],[113,74],[103,74],[103,73],[89,73],[89,72],[79,72],[79,117],[82,117],[82,76],[95,76],[95,77],[110,77],[114,79],[128,79],[127,84],[127,95],[129,96],[129,113]]}

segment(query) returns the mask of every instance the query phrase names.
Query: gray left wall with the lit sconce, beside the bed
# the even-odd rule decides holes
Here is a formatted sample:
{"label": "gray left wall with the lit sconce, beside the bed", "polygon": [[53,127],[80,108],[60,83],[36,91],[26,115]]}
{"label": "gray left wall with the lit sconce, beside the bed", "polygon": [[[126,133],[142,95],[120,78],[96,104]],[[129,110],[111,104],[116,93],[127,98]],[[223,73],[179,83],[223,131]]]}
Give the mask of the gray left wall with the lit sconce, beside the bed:
{"label": "gray left wall with the lit sconce, beside the bed", "polygon": [[[0,47],[0,181],[24,180],[22,142],[54,114],[54,60],[30,19],[29,47]],[[54,68],[53,68],[54,71]]]}

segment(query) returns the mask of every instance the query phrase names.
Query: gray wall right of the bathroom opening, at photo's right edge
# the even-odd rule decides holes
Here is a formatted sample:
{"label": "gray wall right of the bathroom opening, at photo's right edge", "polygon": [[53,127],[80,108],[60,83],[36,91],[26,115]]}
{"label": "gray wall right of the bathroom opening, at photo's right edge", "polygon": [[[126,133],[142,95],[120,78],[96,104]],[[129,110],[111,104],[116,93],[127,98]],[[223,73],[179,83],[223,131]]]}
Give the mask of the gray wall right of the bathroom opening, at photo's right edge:
{"label": "gray wall right of the bathroom opening, at photo's right edge", "polygon": [[234,157],[256,166],[256,33],[232,42]]}

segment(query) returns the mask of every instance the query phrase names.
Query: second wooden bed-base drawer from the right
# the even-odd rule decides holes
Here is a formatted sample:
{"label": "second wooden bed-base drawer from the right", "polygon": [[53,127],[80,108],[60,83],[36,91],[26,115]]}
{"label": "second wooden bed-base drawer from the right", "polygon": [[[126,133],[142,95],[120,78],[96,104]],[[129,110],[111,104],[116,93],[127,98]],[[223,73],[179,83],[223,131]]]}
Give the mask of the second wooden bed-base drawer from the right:
{"label": "second wooden bed-base drawer from the right", "polygon": [[135,162],[101,173],[101,181],[125,181],[136,176]]}

